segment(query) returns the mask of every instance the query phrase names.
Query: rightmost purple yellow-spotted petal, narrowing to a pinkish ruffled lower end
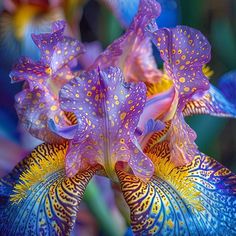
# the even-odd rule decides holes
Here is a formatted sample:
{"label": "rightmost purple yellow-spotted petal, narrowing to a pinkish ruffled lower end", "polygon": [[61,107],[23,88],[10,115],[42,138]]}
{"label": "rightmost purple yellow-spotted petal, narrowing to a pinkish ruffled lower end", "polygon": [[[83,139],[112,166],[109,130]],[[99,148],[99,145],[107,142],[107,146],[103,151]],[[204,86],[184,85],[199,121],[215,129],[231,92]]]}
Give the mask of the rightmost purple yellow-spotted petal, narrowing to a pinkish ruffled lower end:
{"label": "rightmost purple yellow-spotted petal, narrowing to a pinkish ruffled lower end", "polygon": [[203,73],[203,66],[210,60],[211,47],[199,31],[187,26],[157,29],[152,22],[149,24],[149,33],[160,50],[164,69],[173,80],[178,95],[177,109],[172,117],[167,141],[172,161],[180,166],[192,161],[198,153],[194,143],[196,134],[184,121],[181,113],[194,96],[209,89],[210,84]]}

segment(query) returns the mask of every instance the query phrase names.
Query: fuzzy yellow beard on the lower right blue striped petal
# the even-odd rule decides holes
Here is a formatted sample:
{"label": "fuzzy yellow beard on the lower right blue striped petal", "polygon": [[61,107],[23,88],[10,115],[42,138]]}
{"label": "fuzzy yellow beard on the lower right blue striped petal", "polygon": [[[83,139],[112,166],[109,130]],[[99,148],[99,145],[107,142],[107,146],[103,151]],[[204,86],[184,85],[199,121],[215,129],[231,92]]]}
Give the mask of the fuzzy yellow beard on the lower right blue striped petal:
{"label": "fuzzy yellow beard on the lower right blue striped petal", "polygon": [[168,157],[157,157],[147,154],[155,167],[155,175],[174,187],[187,204],[202,211],[204,208],[199,199],[200,192],[195,184],[188,178],[189,172],[175,166]]}

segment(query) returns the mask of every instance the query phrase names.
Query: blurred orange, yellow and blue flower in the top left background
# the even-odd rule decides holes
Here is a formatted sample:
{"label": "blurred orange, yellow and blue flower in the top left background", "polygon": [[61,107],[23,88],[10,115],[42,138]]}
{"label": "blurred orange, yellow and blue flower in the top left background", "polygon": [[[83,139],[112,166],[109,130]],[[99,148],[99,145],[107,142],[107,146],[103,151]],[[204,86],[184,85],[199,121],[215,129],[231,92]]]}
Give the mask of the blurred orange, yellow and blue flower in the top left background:
{"label": "blurred orange, yellow and blue flower in the top left background", "polygon": [[[37,48],[31,42],[31,33],[46,32],[50,22],[66,19],[67,35],[79,35],[78,22],[85,0],[7,0],[0,13],[0,53],[3,67],[12,66],[20,55],[38,58]],[[6,48],[7,53],[6,53]]]}

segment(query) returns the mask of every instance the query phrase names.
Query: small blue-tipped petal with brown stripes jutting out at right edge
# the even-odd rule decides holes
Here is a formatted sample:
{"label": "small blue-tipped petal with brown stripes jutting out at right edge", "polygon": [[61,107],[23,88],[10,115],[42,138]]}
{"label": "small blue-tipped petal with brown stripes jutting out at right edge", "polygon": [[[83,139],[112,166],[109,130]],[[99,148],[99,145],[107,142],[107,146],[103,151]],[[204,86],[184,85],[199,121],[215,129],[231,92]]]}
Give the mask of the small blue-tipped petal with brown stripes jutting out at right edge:
{"label": "small blue-tipped petal with brown stripes jutting out at right edge", "polygon": [[[227,91],[230,91],[230,89],[227,89]],[[234,93],[235,91],[236,87],[234,88]],[[228,93],[226,93],[226,96],[227,94]],[[236,95],[234,96],[236,97]],[[214,116],[236,117],[236,106],[230,103],[220,90],[211,85],[210,89],[202,96],[193,96],[185,105],[183,114],[185,116],[209,114]]]}

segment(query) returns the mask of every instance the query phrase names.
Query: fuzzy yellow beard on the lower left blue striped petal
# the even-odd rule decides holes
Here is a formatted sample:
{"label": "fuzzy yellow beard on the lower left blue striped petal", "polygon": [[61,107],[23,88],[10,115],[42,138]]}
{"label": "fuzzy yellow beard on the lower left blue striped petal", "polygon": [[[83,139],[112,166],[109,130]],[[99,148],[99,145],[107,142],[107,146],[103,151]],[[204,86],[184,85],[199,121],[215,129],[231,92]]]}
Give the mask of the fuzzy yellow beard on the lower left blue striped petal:
{"label": "fuzzy yellow beard on the lower left blue striped petal", "polygon": [[43,182],[50,174],[64,171],[66,150],[67,143],[58,146],[40,145],[34,149],[25,163],[28,168],[22,172],[19,182],[14,186],[10,201],[19,203],[33,186]]}

